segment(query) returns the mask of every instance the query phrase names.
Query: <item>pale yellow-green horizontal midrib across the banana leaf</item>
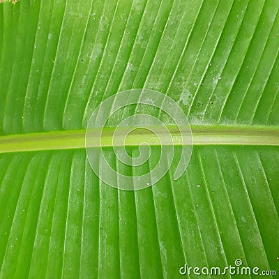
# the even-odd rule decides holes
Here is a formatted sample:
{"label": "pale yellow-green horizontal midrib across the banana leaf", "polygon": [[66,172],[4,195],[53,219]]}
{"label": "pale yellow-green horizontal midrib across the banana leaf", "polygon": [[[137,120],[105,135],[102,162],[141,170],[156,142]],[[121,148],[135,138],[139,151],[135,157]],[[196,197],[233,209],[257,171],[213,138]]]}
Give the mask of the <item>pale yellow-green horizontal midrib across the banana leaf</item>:
{"label": "pale yellow-green horizontal midrib across the banana leaf", "polygon": [[[168,127],[175,145],[181,145],[179,131]],[[279,145],[279,127],[276,126],[191,126],[193,145]],[[115,128],[104,128],[102,146],[112,146]],[[125,128],[123,135],[125,135]],[[64,130],[46,133],[4,135],[0,137],[0,153],[85,147],[86,130]],[[122,135],[122,134],[121,134]],[[165,137],[164,133],[160,136]],[[98,139],[91,146],[98,146]],[[158,145],[158,138],[147,130],[137,129],[129,135],[126,145],[137,146],[142,142]]]}

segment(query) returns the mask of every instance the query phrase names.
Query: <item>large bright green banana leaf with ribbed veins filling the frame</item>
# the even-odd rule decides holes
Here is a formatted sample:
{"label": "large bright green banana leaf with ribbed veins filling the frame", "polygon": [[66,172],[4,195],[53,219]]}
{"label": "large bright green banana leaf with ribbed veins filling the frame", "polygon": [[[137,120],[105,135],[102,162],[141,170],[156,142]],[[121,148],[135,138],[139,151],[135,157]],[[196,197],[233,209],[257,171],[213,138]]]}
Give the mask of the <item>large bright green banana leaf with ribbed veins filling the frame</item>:
{"label": "large bright green banana leaf with ribbed veins filling the frame", "polygon": [[[0,3],[0,278],[210,278],[179,270],[223,270],[236,259],[278,275],[278,8],[277,0]],[[163,179],[124,191],[92,171],[85,129],[103,100],[138,88],[179,104],[193,153],[174,180],[178,140]],[[137,156],[144,138],[153,156],[130,167],[116,160],[111,131],[141,112],[167,121],[129,107],[106,127],[105,156],[130,176],[149,173],[160,146],[133,134],[128,153]]]}

